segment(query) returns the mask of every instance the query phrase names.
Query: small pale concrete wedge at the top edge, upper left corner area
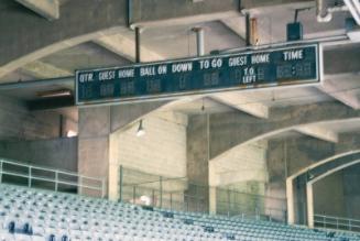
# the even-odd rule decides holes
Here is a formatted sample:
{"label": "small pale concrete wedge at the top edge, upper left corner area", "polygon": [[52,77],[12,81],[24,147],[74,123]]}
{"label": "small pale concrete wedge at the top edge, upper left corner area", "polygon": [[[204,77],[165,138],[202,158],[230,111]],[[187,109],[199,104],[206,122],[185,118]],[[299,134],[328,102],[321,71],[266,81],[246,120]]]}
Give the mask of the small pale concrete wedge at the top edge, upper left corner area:
{"label": "small pale concrete wedge at the top edge, upper left corner area", "polygon": [[15,0],[37,14],[47,20],[56,20],[59,18],[58,0]]}

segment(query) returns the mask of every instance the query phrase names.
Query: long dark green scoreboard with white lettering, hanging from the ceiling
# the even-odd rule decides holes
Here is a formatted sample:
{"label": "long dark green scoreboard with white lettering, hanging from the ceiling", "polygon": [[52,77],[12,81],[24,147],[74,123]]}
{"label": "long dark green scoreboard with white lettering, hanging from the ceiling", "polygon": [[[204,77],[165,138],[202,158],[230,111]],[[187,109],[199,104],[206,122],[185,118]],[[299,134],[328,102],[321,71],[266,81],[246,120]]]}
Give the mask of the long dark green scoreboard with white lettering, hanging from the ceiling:
{"label": "long dark green scoreboard with white lettering, hanging from the ceiling", "polygon": [[318,44],[76,72],[76,103],[173,98],[319,83]]}

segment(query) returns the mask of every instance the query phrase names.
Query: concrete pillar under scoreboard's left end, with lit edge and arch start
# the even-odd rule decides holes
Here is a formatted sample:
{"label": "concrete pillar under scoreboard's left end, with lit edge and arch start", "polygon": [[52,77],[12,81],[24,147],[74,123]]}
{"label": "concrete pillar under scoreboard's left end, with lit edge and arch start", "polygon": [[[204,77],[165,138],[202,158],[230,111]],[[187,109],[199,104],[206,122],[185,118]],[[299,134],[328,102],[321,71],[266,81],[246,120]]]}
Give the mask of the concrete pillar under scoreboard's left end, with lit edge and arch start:
{"label": "concrete pillar under scoreboard's left end, with lit edge and arch start", "polygon": [[[78,167],[84,175],[108,178],[108,194],[117,198],[119,172],[118,139],[111,133],[124,130],[138,118],[160,108],[167,101],[87,107],[79,109]],[[112,161],[111,161],[112,160]]]}

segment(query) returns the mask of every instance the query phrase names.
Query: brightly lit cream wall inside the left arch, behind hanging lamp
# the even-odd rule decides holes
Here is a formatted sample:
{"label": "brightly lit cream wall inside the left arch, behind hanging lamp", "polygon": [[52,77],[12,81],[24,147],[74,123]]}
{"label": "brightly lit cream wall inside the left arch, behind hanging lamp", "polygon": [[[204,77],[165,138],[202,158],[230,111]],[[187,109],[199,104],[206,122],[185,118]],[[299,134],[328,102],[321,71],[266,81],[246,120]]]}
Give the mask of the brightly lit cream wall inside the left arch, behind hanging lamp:
{"label": "brightly lit cream wall inside the left arch, behind hanging lamp", "polygon": [[[119,166],[123,166],[123,183],[157,182],[186,177],[187,117],[175,112],[153,112],[143,119],[145,135],[137,136],[139,122],[110,135],[109,196],[119,198]],[[164,182],[164,191],[183,191],[186,182]],[[144,188],[159,190],[153,183]]]}

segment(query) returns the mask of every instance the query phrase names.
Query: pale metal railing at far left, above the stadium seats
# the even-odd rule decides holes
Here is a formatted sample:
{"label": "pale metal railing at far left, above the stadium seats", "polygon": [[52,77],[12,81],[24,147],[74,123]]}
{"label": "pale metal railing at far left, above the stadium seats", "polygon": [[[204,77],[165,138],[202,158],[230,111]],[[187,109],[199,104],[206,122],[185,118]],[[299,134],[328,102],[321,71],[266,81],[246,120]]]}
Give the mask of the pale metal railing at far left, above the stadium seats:
{"label": "pale metal railing at far left, above the stadium seats", "polygon": [[[95,178],[78,173],[29,165],[0,158],[0,184],[22,184],[28,187],[46,188],[54,191],[75,189],[80,195],[96,193],[106,197],[106,178]],[[92,194],[94,196],[94,194]]]}

